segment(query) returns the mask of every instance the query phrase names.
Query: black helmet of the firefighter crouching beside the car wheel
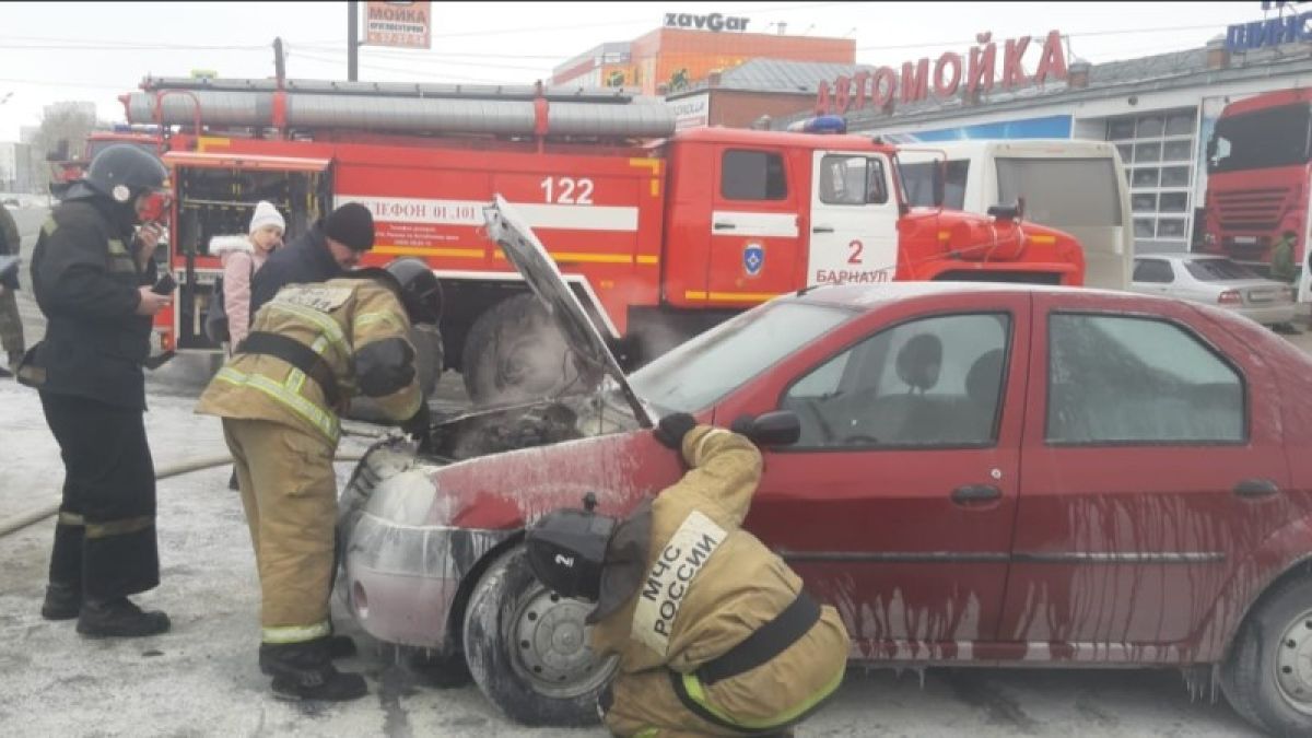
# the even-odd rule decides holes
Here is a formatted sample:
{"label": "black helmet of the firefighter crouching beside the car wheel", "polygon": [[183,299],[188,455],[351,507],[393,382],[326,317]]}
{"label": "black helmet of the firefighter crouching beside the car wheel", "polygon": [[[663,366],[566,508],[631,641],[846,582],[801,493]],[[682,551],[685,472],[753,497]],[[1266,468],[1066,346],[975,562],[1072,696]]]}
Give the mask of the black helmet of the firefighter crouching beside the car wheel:
{"label": "black helmet of the firefighter crouching beside the car wheel", "polygon": [[563,597],[596,601],[615,519],[583,510],[558,510],[529,529],[529,567]]}

